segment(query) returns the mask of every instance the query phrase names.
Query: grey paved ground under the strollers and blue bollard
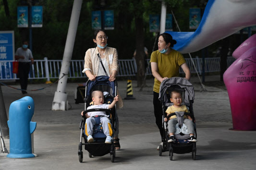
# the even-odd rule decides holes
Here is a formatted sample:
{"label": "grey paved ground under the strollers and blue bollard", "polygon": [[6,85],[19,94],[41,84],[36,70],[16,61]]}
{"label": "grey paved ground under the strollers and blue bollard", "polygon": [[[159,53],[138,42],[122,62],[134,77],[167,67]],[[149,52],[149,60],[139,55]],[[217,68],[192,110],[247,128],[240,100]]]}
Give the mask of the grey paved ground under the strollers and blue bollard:
{"label": "grey paved ground under the strollers and blue bollard", "polygon": [[[219,76],[207,76],[206,81],[218,81]],[[156,147],[160,143],[158,129],[153,113],[153,79],[139,91],[133,81],[135,100],[124,100],[124,107],[118,110],[120,119],[120,139],[122,150],[116,152],[115,163],[110,155],[89,158],[84,152],[84,162],[78,161],[80,138],[80,112],[84,105],[74,104],[73,90],[76,83],[67,85],[71,109],[52,111],[51,105],[57,85],[41,91],[28,91],[35,101],[37,129],[34,132],[34,147],[37,158],[13,159],[0,153],[1,170],[253,170],[256,167],[256,132],[232,131],[231,109],[227,91],[223,88],[206,86],[207,92],[200,92],[198,79],[192,77],[195,87],[194,112],[197,127],[197,155],[192,160],[190,154],[158,156]],[[126,96],[126,81],[118,81],[122,97]],[[13,85],[19,88],[19,85]],[[29,89],[44,87],[44,84],[29,85]],[[2,86],[5,106],[9,112],[10,104],[22,97],[20,91]],[[4,139],[9,150],[9,139]]]}

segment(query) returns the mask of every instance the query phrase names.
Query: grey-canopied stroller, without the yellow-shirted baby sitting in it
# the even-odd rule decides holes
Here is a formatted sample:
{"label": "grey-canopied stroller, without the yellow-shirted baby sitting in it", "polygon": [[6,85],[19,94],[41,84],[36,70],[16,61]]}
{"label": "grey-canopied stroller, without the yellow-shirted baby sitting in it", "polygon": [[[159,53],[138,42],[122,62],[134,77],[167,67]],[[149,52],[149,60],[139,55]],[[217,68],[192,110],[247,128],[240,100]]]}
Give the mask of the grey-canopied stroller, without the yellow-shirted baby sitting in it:
{"label": "grey-canopied stroller, without the yellow-shirted baby sitting in it", "polygon": [[[171,91],[176,90],[182,92],[183,96],[183,103],[182,105],[186,105],[187,109],[189,110],[189,113],[185,112],[184,115],[189,115],[193,119],[193,122],[195,121],[194,112],[193,112],[193,102],[194,102],[194,87],[193,85],[186,79],[181,77],[172,77],[169,79],[164,80],[160,85],[160,91],[159,91],[159,100],[162,103],[162,113],[163,113],[163,127],[164,127],[164,137],[162,139],[163,145],[159,146],[159,156],[162,156],[162,152],[169,151],[169,157],[170,160],[172,160],[173,153],[176,154],[184,154],[184,153],[190,153],[192,152],[192,158],[195,160],[196,155],[196,144],[195,142],[188,141],[189,134],[183,134],[182,132],[180,134],[175,134],[174,138],[175,141],[169,143],[168,142],[168,123],[167,121],[164,121],[164,118],[166,117],[165,110],[172,106],[173,103],[170,102],[170,97],[167,97],[169,94],[171,94]],[[167,92],[169,94],[167,94]],[[171,113],[168,115],[167,120],[173,115],[176,115],[176,113]],[[179,128],[181,128],[182,124],[179,124]],[[194,123],[195,126],[195,123]],[[196,128],[195,128],[195,134],[196,138]]]}

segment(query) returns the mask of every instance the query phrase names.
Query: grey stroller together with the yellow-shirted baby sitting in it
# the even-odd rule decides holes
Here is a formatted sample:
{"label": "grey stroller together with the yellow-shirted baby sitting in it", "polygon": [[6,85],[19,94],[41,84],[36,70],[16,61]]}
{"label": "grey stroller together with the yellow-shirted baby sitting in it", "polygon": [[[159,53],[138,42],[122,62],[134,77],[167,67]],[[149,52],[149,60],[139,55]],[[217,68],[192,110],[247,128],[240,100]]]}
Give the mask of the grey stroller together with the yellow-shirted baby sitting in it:
{"label": "grey stroller together with the yellow-shirted baby sitting in it", "polygon": [[[197,133],[193,110],[195,99],[193,85],[182,77],[166,79],[160,85],[158,99],[162,104],[164,128],[159,156],[162,156],[162,152],[169,151],[170,160],[173,160],[173,153],[192,152],[192,158],[195,160]],[[174,115],[176,117],[172,117]],[[184,117],[186,119],[183,119]]]}

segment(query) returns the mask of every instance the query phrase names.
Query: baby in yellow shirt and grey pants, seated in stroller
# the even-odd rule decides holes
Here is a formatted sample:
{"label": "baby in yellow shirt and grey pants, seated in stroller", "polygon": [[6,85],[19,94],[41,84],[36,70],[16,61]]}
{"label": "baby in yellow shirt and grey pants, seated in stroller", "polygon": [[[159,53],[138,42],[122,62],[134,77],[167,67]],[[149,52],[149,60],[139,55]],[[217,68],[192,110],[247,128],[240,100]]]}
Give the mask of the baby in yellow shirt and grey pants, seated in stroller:
{"label": "baby in yellow shirt and grey pants, seated in stroller", "polygon": [[[172,91],[171,92],[171,102],[173,103],[172,106],[169,106],[166,109],[167,116],[175,111],[185,111],[189,112],[186,105],[182,105],[182,93],[179,91]],[[167,121],[167,118],[164,118],[164,121]],[[168,121],[168,131],[170,134],[170,139],[168,142],[174,141],[174,133],[175,133],[175,125],[178,123],[176,115],[171,116]],[[192,118],[188,115],[184,115],[183,123],[187,126],[188,133],[190,138],[188,141],[190,142],[197,142],[194,136],[194,123]]]}

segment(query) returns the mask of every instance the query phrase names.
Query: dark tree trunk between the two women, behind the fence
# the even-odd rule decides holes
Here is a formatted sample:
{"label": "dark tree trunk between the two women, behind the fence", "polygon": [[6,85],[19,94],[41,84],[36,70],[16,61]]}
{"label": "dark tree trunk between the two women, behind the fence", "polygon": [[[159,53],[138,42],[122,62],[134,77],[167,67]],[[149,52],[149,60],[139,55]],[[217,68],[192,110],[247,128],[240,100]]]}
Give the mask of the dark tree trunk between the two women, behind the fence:
{"label": "dark tree trunk between the two women, behind the fence", "polygon": [[142,15],[135,16],[136,27],[136,55],[137,64],[137,86],[143,85],[145,77],[145,51],[144,51],[144,31]]}

